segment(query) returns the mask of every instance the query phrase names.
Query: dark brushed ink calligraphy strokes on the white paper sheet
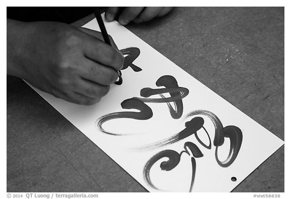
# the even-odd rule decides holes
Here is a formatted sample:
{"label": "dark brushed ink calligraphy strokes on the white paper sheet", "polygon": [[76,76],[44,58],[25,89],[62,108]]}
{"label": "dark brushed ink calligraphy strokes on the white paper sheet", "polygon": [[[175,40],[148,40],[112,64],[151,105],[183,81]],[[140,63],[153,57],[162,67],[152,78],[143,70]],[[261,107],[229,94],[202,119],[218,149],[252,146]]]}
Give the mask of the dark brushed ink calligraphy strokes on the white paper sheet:
{"label": "dark brushed ink calligraphy strokes on the white paper sheet", "polygon": [[[138,57],[139,50],[137,48],[129,48],[122,50],[124,55],[128,55],[127,59],[125,59],[125,64],[122,69],[126,69],[128,66],[130,66],[134,71],[140,71],[141,69],[132,64],[132,62]],[[176,79],[171,75],[164,75],[161,76],[157,82],[157,87],[165,87],[165,88],[159,88],[159,89],[152,89],[152,88],[143,88],[140,91],[140,96],[143,97],[133,97],[131,99],[124,100],[121,103],[122,108],[124,109],[137,109],[140,110],[140,112],[114,112],[109,113],[106,115],[103,115],[100,117],[96,123],[96,128],[99,128],[100,131],[106,134],[110,135],[130,135],[130,134],[117,134],[117,133],[111,133],[107,132],[102,128],[102,125],[113,119],[117,118],[132,118],[134,120],[148,120],[153,116],[152,109],[146,104],[146,103],[167,103],[170,114],[172,118],[178,119],[181,117],[183,113],[183,103],[182,99],[186,97],[189,93],[188,89],[179,87]],[[169,93],[171,97],[165,97],[163,94]],[[161,98],[149,98],[153,95],[159,95]],[[175,105],[175,109],[172,107],[170,102],[173,102]],[[243,141],[243,134],[241,133],[241,130],[238,127],[235,126],[227,126],[223,127],[219,118],[212,112],[208,110],[195,110],[188,113],[185,117],[189,118],[193,115],[205,115],[212,121],[214,128],[215,128],[215,134],[214,134],[214,140],[213,145],[216,147],[215,149],[215,158],[221,167],[229,167],[236,159],[238,152],[240,150],[241,143]],[[211,139],[210,136],[205,129],[204,125],[204,119],[202,117],[196,116],[191,118],[190,121],[187,121],[185,123],[185,128],[164,140],[139,147],[139,149],[153,149],[158,148],[161,146],[165,146],[168,144],[173,144],[175,142],[178,142],[180,140],[183,140],[191,135],[195,135],[198,142],[204,146],[207,149],[211,149]],[[209,145],[206,145],[202,142],[202,140],[199,138],[197,132],[203,129],[205,133],[208,136]],[[218,159],[218,148],[219,146],[222,146],[224,144],[224,138],[229,138],[230,140],[230,147],[229,147],[229,153],[228,157],[225,161],[220,161]],[[195,174],[196,174],[196,159],[203,156],[203,153],[198,148],[198,146],[192,142],[185,142],[184,143],[184,149],[180,153],[174,151],[174,150],[163,150],[156,155],[154,155],[150,160],[147,162],[147,164],[144,166],[143,169],[143,177],[146,180],[146,182],[152,186],[155,189],[158,189],[151,181],[150,178],[150,170],[153,167],[153,165],[161,160],[163,157],[168,157],[168,161],[164,161],[161,163],[160,168],[164,171],[170,171],[174,169],[180,162],[180,158],[183,152],[187,153],[191,157],[191,166],[192,166],[192,177],[191,177],[191,184],[189,191],[192,190],[194,181],[195,181]]]}

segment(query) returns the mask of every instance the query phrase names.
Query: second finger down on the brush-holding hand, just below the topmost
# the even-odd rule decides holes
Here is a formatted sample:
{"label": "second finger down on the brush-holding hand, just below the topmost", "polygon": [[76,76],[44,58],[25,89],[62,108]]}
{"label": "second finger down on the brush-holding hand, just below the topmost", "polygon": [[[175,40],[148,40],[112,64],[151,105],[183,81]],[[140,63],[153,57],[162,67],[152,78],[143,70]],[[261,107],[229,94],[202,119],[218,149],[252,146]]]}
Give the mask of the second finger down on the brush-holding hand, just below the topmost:
{"label": "second finger down on the brush-holding hand, just below the topmost", "polygon": [[79,68],[79,75],[91,82],[107,86],[115,83],[118,78],[118,72],[113,68],[106,67],[89,59],[84,60],[82,63],[83,65]]}

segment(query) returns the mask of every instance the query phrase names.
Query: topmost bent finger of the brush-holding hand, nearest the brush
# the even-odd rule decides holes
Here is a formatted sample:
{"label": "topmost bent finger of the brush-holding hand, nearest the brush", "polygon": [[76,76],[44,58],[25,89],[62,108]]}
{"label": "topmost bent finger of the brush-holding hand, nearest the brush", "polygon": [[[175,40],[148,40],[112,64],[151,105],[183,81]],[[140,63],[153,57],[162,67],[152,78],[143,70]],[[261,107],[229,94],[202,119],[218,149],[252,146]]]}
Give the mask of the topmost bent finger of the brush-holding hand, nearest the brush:
{"label": "topmost bent finger of the brush-holding hand, nearest the brush", "polygon": [[122,53],[94,36],[86,35],[84,37],[83,52],[87,58],[115,70],[120,70],[123,66],[124,57]]}

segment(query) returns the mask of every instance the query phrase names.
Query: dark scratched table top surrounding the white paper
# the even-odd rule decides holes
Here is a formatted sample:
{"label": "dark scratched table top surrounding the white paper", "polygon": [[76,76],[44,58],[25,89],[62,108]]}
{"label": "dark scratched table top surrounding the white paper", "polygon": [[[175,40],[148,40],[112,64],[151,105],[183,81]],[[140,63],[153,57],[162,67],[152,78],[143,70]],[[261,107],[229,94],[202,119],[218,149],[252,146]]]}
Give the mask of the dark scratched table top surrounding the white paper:
{"label": "dark scratched table top surrounding the white paper", "polygon": [[[175,8],[126,27],[284,140],[284,8]],[[21,79],[7,76],[7,192],[144,191]],[[284,146],[233,192],[284,192]]]}

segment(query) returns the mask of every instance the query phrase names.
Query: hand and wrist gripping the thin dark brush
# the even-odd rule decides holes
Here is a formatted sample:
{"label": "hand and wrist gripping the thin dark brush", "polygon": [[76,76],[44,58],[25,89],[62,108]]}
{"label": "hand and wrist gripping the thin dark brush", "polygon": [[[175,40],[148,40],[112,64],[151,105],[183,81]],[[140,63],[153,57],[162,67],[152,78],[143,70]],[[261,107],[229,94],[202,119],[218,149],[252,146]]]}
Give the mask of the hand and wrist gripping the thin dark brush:
{"label": "hand and wrist gripping the thin dark brush", "polygon": [[124,57],[101,32],[58,22],[7,20],[7,73],[58,98],[94,104],[118,78]]}

